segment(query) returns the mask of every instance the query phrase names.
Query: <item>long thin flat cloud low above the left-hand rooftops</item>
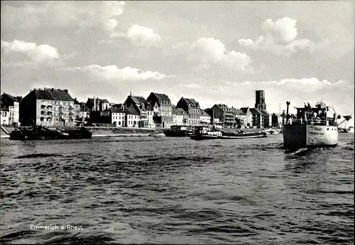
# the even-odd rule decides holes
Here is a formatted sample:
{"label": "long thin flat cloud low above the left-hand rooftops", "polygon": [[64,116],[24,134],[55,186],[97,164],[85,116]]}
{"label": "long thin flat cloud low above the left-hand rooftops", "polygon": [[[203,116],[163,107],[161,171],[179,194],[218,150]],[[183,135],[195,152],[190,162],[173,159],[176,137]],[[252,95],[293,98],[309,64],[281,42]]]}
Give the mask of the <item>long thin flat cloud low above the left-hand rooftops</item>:
{"label": "long thin flat cloud low above the left-hand rooftops", "polygon": [[91,77],[104,80],[163,80],[165,78],[175,77],[174,75],[165,75],[160,72],[144,72],[143,70],[132,67],[119,69],[116,65],[87,65],[86,67],[67,67],[65,70],[84,72]]}

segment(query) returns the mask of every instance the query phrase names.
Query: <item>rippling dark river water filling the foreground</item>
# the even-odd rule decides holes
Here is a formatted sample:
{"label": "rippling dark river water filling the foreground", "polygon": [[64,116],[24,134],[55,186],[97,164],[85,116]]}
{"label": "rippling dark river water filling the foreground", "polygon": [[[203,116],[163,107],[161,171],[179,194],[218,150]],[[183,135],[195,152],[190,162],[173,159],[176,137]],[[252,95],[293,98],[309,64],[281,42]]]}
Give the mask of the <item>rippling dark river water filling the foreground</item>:
{"label": "rippling dark river water filling the foreground", "polygon": [[354,244],[354,134],[282,146],[1,139],[0,243]]}

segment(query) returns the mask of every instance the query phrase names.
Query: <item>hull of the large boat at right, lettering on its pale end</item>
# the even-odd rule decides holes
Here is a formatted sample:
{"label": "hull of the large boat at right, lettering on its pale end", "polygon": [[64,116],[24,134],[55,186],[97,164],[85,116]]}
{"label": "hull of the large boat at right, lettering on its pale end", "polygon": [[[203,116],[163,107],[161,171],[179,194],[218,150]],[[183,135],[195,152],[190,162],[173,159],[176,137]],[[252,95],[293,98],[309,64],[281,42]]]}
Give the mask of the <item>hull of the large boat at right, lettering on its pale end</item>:
{"label": "hull of the large boat at right, lettering on its pale end", "polygon": [[334,147],[337,143],[337,126],[290,124],[283,128],[283,146],[288,149]]}

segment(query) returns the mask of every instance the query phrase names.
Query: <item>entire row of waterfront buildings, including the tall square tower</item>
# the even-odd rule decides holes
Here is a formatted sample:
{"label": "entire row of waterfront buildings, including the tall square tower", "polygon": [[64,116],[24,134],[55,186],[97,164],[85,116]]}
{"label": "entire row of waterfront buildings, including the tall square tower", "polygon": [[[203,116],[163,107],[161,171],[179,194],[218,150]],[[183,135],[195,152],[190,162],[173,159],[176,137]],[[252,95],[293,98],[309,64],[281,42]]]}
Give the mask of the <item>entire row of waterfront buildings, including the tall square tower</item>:
{"label": "entire row of waterfront buildings, including the tall square tower", "polygon": [[1,94],[1,124],[14,126],[77,126],[111,124],[117,127],[170,128],[173,125],[214,124],[226,128],[280,127],[283,115],[266,111],[265,92],[256,91],[255,107],[214,104],[201,109],[199,102],[182,97],[173,105],[166,94],[151,92],[147,99],[130,94],[114,104],[99,97],[87,102],[73,99],[67,89],[32,89],[25,97]]}

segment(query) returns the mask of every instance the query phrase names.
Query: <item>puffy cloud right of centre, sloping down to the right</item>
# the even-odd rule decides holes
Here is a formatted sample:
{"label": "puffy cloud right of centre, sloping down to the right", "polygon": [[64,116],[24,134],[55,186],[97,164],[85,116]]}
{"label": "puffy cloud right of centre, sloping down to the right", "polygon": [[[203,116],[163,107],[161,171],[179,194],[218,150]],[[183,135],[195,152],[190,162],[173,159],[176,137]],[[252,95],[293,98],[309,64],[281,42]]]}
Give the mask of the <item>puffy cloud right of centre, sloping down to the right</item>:
{"label": "puffy cloud right of centre, sloping down to the right", "polygon": [[202,64],[217,63],[236,70],[246,70],[251,64],[251,58],[245,53],[235,50],[227,51],[221,40],[214,38],[200,38],[187,50],[190,58],[200,60]]}

